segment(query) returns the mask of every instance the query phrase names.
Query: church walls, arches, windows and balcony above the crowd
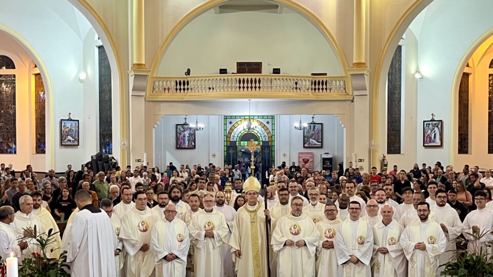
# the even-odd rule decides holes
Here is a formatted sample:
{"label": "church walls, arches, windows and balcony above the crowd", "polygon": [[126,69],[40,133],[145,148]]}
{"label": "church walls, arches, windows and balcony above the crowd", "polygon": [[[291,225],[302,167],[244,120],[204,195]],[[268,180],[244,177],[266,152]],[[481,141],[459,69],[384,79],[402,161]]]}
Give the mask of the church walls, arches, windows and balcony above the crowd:
{"label": "church walls, arches, windows and balcony above the crowd", "polygon": [[492,1],[0,6],[0,163],[14,177],[85,173],[101,157],[255,166],[262,184],[292,163],[493,168]]}

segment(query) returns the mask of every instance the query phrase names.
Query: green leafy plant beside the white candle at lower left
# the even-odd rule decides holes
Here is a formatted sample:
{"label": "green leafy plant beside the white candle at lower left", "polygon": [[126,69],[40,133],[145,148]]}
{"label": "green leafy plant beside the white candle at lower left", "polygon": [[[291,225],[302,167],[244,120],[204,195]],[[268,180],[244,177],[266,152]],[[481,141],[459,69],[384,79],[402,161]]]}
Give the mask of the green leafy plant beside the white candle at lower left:
{"label": "green leafy plant beside the white candle at lower left", "polygon": [[67,251],[60,254],[59,259],[50,259],[46,255],[47,251],[53,252],[54,248],[50,246],[55,242],[55,235],[59,232],[53,232],[49,229],[48,233],[38,233],[36,226],[34,228],[23,228],[24,236],[19,239],[24,241],[31,240],[32,245],[37,246],[40,252],[31,252],[30,258],[22,261],[19,269],[19,276],[23,277],[69,277],[70,266],[67,264]]}

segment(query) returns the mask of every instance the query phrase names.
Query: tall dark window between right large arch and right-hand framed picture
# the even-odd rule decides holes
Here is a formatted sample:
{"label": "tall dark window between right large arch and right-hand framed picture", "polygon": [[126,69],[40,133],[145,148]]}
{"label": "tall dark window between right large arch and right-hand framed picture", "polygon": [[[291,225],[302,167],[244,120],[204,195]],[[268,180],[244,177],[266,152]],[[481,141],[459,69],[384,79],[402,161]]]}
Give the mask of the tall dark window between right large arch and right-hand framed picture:
{"label": "tall dark window between right large arch and right-hand framed picture", "polygon": [[401,153],[402,46],[395,49],[387,80],[387,153]]}

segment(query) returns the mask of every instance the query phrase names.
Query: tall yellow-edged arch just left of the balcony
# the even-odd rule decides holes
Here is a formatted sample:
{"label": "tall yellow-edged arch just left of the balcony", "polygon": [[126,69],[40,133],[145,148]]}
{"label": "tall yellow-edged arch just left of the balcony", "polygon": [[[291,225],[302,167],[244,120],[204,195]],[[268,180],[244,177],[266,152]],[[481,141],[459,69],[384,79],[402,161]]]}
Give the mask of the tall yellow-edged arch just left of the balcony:
{"label": "tall yellow-edged arch just left of the balcony", "polygon": [[[125,94],[125,72],[123,71],[123,64],[118,51],[115,39],[111,36],[111,32],[104,23],[98,12],[86,1],[86,0],[68,0],[75,8],[77,8],[89,21],[94,30],[98,33],[103,46],[108,54],[108,59],[111,68],[111,74],[113,80],[118,82],[113,82],[113,87],[115,91],[119,91],[120,99],[119,101],[119,119],[120,119],[120,132],[119,136],[113,137],[113,148],[118,148],[120,150],[120,164],[127,163],[127,151],[126,151],[126,137],[127,137],[127,113],[125,112],[127,106],[127,99]],[[107,47],[109,46],[109,47]],[[115,100],[113,100],[115,101]],[[117,132],[118,133],[118,132]],[[115,152],[113,152],[115,155]]]}

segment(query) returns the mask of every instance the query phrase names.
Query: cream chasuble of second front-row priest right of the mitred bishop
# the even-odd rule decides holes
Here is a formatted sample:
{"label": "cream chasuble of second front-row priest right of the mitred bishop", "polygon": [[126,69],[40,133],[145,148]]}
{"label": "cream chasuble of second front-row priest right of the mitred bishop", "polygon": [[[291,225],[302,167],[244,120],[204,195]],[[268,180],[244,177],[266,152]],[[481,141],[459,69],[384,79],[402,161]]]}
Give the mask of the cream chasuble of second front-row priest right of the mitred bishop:
{"label": "cream chasuble of second front-row priest right of the mitred bishop", "polygon": [[318,277],[337,277],[337,256],[335,248],[325,249],[322,243],[325,241],[335,241],[335,237],[340,235],[337,233],[337,228],[341,223],[340,219],[318,222],[315,227],[318,229],[319,241],[317,246],[317,258],[315,263],[315,271]]}

